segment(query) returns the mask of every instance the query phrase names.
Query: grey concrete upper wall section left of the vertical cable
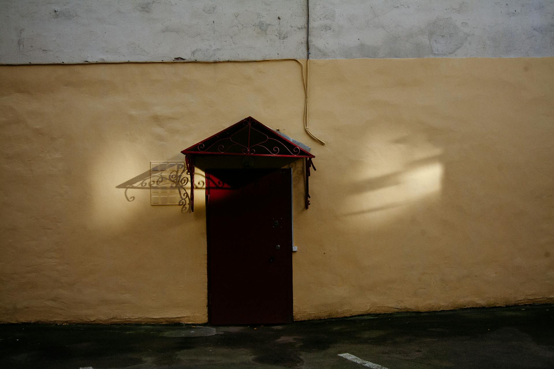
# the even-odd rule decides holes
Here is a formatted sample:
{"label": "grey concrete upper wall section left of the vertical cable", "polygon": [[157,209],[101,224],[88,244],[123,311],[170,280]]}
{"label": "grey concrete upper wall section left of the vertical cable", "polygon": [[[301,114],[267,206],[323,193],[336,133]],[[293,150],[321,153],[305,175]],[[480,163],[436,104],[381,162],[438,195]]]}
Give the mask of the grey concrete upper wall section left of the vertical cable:
{"label": "grey concrete upper wall section left of the vertical cable", "polygon": [[0,63],[306,55],[305,0],[0,1]]}

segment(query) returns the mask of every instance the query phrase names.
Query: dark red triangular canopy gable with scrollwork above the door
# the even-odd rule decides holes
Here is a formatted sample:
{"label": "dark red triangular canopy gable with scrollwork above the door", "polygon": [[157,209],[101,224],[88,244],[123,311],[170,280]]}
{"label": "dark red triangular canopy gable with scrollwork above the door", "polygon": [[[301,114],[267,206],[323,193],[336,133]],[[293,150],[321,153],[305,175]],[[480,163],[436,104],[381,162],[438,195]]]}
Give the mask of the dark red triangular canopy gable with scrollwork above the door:
{"label": "dark red triangular canopy gable with scrollwork above the door", "polygon": [[314,158],[300,145],[252,117],[184,149],[185,155],[254,155],[262,157]]}

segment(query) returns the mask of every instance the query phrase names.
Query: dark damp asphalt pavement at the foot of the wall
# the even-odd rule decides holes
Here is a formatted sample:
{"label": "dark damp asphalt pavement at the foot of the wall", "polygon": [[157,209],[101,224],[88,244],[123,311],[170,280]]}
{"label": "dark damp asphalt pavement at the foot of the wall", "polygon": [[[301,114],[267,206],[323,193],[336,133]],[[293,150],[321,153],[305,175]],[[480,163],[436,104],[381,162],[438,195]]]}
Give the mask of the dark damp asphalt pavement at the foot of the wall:
{"label": "dark damp asphalt pavement at the foot of the wall", "polygon": [[554,305],[273,326],[0,325],[0,368],[554,368]]}

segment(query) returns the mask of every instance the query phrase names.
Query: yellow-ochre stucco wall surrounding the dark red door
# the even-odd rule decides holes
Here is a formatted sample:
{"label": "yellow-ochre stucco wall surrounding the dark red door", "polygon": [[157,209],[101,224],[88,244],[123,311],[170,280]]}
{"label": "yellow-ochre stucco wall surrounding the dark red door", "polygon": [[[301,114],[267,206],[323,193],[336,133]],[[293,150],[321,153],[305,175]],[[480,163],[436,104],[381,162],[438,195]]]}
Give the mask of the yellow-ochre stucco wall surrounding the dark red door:
{"label": "yellow-ochre stucco wall surrounding the dark red door", "polygon": [[0,67],[0,321],[207,320],[193,214],[116,188],[253,116],[312,146],[294,316],[554,302],[554,58]]}

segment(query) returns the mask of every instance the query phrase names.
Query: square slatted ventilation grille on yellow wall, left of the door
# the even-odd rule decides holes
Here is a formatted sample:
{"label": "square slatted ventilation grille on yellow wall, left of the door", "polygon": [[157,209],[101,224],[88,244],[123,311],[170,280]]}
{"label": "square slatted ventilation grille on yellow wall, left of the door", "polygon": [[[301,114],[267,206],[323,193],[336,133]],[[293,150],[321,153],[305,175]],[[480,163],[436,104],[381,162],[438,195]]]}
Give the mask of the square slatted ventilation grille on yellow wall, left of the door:
{"label": "square slatted ventilation grille on yellow wall, left of the door", "polygon": [[150,162],[150,204],[183,205],[188,198],[184,162]]}

